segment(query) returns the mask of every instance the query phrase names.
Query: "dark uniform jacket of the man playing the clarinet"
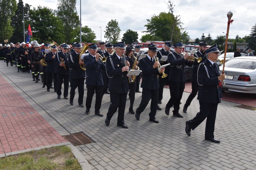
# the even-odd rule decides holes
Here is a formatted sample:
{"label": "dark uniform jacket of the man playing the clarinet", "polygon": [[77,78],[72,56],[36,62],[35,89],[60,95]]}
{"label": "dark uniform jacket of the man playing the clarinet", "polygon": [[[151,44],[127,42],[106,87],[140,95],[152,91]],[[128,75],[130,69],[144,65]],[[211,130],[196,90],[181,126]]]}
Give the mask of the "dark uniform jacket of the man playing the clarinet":
{"label": "dark uniform jacket of the man playing the clarinet", "polygon": [[[111,60],[113,61],[113,66],[111,64]],[[128,60],[127,57],[125,57]],[[116,54],[113,56],[107,57],[106,60],[106,72],[109,76],[109,86],[108,91],[114,93],[127,93],[129,91],[128,87],[128,79],[127,72],[122,72],[122,68],[124,67],[124,62],[120,62]],[[113,69],[114,67],[114,69]]]}

